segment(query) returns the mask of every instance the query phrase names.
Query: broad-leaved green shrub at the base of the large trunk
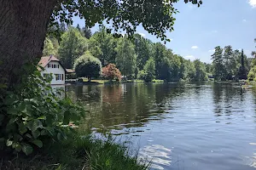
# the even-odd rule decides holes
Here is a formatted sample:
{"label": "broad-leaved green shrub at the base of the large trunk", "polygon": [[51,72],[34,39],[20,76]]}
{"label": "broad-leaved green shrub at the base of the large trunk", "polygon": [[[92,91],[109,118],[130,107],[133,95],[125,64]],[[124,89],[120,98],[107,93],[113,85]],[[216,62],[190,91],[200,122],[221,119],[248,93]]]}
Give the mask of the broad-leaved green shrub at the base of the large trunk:
{"label": "broad-leaved green shrub at the base of the large trunk", "polygon": [[29,155],[45,144],[67,139],[68,128],[63,125],[77,123],[84,109],[71,99],[60,99],[60,91],[49,86],[51,77],[41,77],[36,65],[24,65],[17,74],[23,75],[22,81],[13,90],[0,88],[1,150]]}

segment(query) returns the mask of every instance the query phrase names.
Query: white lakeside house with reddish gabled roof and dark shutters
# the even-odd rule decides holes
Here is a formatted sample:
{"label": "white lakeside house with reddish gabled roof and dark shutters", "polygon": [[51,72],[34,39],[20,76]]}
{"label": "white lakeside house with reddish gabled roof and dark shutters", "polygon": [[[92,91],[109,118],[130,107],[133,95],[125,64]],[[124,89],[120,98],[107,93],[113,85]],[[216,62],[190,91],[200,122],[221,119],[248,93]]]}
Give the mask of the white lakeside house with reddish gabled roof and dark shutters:
{"label": "white lakeside house with reddish gabled roof and dark shutters", "polygon": [[53,79],[50,82],[50,84],[65,84],[66,69],[63,67],[63,65],[61,65],[59,59],[55,58],[52,55],[46,56],[42,57],[38,64],[44,67],[44,71],[40,69],[43,77],[47,77],[49,76],[49,74],[52,74]]}

